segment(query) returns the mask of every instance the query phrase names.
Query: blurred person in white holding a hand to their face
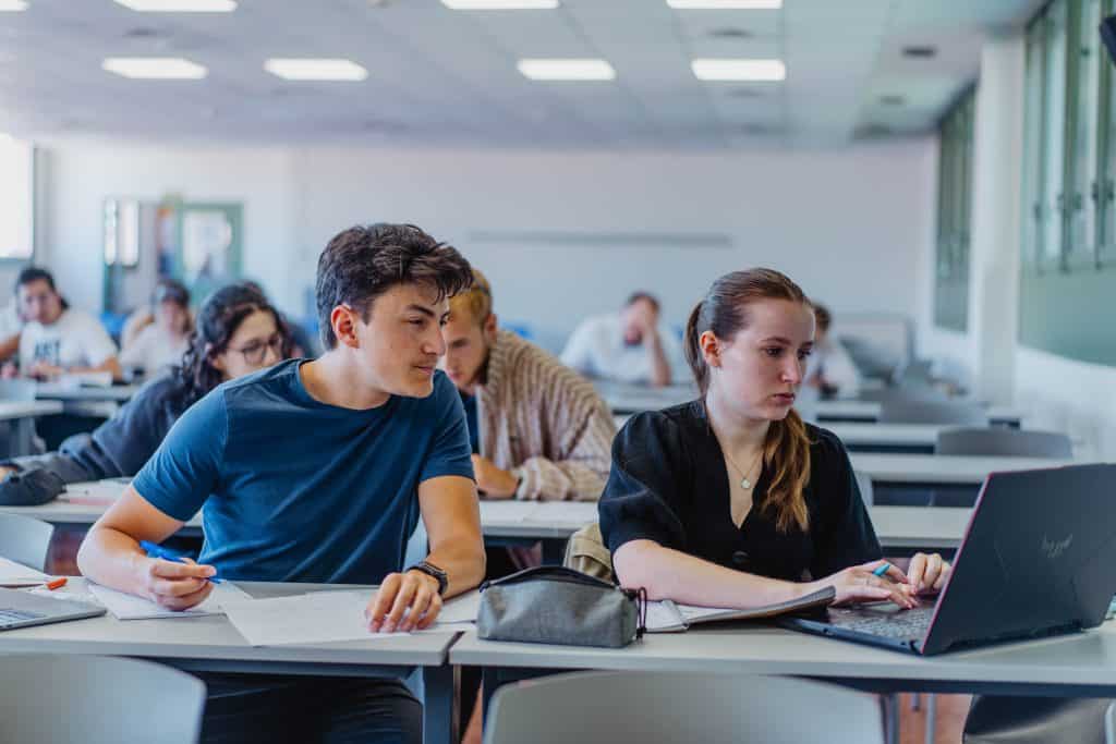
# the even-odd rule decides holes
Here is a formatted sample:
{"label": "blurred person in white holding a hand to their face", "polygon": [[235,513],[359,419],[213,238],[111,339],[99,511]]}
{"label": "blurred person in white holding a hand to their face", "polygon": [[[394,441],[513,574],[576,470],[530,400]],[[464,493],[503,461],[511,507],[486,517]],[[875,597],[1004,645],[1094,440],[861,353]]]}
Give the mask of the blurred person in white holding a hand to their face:
{"label": "blurred person in white holding a hand to their face", "polygon": [[663,386],[671,360],[682,357],[674,334],[660,325],[658,300],[635,292],[619,313],[581,321],[561,352],[565,365],[587,377]]}

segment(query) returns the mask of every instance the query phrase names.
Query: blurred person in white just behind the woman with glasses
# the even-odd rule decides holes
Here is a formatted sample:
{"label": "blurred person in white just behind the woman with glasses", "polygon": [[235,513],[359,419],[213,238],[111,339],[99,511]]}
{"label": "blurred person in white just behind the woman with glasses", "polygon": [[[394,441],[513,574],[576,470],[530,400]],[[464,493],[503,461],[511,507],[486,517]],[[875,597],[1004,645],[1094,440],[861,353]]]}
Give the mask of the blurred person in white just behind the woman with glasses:
{"label": "blurred person in white just behind the woman with glasses", "polygon": [[179,363],[190,346],[193,318],[190,316],[190,290],[173,279],[161,279],[152,294],[154,320],[123,344],[121,367],[142,369],[155,377]]}

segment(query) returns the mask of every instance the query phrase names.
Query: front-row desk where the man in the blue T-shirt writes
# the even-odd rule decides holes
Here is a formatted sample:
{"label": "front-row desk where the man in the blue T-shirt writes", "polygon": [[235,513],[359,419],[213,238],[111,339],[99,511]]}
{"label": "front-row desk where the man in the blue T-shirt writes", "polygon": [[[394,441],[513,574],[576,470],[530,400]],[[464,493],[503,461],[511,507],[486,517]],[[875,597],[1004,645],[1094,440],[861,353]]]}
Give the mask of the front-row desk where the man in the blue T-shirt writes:
{"label": "front-row desk where the man in the blue T-shirt writes", "polygon": [[[257,598],[339,584],[237,581]],[[369,592],[372,588],[369,587]],[[84,579],[71,578],[67,591],[87,593]],[[112,615],[0,632],[0,654],[97,654],[132,656],[187,671],[290,674],[314,676],[400,677],[422,669],[425,689],[423,726],[426,742],[456,742],[454,669],[446,654],[459,631],[414,634],[360,641],[253,647],[228,618],[210,616],[121,621]]]}

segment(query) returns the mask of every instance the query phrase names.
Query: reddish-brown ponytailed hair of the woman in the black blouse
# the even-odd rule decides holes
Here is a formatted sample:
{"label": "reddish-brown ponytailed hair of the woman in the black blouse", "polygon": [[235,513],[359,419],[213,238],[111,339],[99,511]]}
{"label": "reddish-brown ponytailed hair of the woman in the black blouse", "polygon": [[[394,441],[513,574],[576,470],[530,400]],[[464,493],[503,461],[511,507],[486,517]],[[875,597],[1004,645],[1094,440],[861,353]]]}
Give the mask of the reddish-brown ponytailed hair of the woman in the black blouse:
{"label": "reddish-brown ponytailed hair of the woman in the black blouse", "polygon": [[[790,300],[811,308],[801,288],[787,276],[773,269],[749,269],[727,273],[714,281],[705,299],[690,313],[686,361],[702,398],[709,393],[710,373],[701,350],[701,335],[712,331],[719,339],[733,338],[748,328],[751,322],[748,307],[759,300]],[[782,421],[771,422],[763,453],[775,470],[763,510],[775,512],[780,532],[789,531],[791,525],[805,532],[809,526],[804,491],[810,480],[810,439],[798,412],[791,409]]]}

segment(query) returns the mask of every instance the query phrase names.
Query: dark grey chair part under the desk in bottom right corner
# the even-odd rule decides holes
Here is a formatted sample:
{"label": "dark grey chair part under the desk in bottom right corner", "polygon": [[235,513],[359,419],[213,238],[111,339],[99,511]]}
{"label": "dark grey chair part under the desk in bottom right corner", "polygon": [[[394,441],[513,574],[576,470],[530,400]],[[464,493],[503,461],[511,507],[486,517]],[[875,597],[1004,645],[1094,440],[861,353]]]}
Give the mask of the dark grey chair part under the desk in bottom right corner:
{"label": "dark grey chair part under the desk in bottom right corner", "polygon": [[1105,744],[1113,700],[978,695],[965,718],[964,744]]}

